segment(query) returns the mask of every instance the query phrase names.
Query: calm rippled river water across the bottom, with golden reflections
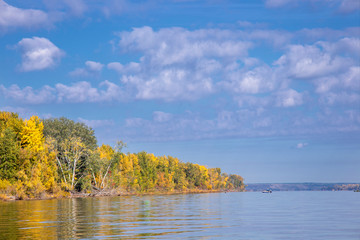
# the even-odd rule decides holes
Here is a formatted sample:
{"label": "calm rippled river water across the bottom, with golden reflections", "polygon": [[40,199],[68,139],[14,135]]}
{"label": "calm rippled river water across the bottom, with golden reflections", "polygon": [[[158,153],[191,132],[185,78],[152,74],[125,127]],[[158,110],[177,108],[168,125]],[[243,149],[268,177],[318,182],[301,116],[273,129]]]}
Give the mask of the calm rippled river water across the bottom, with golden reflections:
{"label": "calm rippled river water across the bottom, with golden reflections", "polygon": [[360,239],[360,193],[0,202],[0,239]]}

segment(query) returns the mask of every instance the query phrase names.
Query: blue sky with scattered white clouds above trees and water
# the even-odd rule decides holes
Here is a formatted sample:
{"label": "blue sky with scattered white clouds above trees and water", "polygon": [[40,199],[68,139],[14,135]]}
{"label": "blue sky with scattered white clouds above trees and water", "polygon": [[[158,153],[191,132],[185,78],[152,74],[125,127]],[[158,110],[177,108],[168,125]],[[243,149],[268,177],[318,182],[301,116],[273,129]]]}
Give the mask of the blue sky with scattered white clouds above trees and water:
{"label": "blue sky with scattered white clouds above trees and water", "polygon": [[246,183],[360,182],[360,2],[0,0],[0,110]]}

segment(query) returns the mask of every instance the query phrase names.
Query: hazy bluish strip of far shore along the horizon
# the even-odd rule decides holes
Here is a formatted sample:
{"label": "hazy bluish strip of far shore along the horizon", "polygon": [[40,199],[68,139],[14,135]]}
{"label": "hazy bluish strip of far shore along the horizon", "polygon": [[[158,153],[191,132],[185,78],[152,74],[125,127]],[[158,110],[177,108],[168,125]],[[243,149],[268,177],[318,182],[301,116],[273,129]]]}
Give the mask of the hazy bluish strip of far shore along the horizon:
{"label": "hazy bluish strip of far shore along the horizon", "polygon": [[356,183],[252,183],[246,185],[246,191],[356,191],[360,184]]}

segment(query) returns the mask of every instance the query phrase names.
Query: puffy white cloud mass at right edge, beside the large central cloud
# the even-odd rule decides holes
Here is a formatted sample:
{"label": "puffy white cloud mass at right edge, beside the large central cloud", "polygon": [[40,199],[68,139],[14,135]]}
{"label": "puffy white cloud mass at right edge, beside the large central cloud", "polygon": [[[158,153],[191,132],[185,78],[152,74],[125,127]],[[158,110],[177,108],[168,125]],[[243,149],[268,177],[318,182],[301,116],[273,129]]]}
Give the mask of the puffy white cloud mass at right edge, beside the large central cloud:
{"label": "puffy white cloud mass at right edge, beside the large central cloud", "polygon": [[274,64],[285,78],[313,83],[322,104],[354,103],[360,90],[359,47],[354,37],[290,45]]}

